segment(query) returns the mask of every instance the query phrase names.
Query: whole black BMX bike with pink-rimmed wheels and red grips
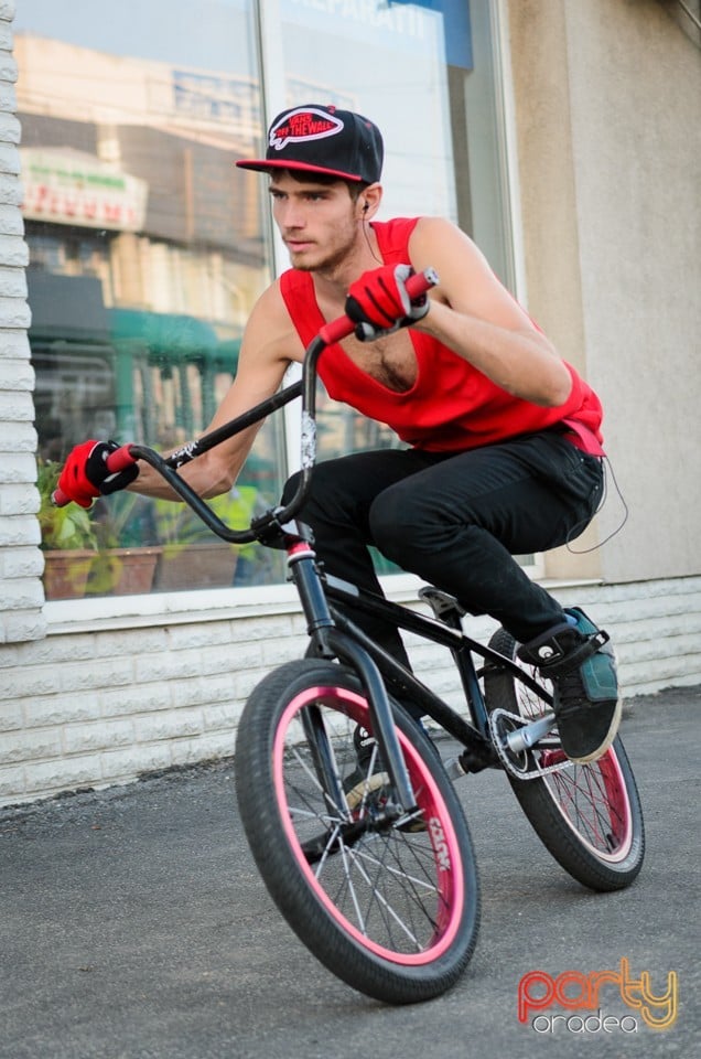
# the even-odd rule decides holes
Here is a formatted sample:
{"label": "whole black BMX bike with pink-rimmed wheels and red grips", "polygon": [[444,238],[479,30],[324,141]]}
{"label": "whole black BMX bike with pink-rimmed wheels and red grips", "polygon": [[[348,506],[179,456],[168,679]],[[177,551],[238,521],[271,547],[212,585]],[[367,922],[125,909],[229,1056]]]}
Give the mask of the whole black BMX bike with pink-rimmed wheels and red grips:
{"label": "whole black BMX bike with pink-rimmed wheels and red grips", "polygon": [[[430,270],[412,277],[412,297],[433,281]],[[552,688],[518,660],[505,630],[484,645],[464,632],[465,612],[443,591],[421,589],[431,609],[422,613],[362,591],[317,563],[311,531],[295,520],[315,462],[316,364],[326,345],[352,330],[346,317],[325,324],[306,350],[302,378],[246,415],[165,459],[129,445],[108,466],[144,460],[219,537],[287,553],[309,645],[304,657],[269,673],[242,712],[235,760],[244,827],[271,897],[310,951],[356,990],[403,1004],[450,988],[476,944],[479,885],[456,775],[504,772],[554,859],[593,890],[622,889],[636,878],[645,837],[621,738],[595,762],[571,762],[560,746]],[[295,495],[248,530],[229,528],[177,469],[300,396]],[[367,637],[349,608],[447,648],[464,709],[449,706]],[[407,703],[460,745],[449,769]],[[363,729],[371,749],[359,757]]]}

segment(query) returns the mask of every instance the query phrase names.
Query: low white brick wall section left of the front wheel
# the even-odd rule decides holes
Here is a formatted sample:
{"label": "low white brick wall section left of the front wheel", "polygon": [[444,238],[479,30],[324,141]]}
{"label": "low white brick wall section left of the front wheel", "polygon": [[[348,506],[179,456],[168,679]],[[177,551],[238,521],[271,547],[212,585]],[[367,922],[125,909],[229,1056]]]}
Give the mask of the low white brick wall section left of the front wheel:
{"label": "low white brick wall section left of the front wheel", "polygon": [[0,804],[230,755],[295,614],[61,633],[0,651]]}

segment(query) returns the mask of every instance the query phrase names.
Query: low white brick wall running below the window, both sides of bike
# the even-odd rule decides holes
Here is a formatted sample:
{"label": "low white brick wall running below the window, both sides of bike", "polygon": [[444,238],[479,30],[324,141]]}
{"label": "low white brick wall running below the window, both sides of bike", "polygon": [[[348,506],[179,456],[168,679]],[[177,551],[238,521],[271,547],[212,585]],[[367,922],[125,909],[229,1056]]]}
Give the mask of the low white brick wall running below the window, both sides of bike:
{"label": "low white brick wall running below the window, both sides of bike", "polygon": [[[557,590],[607,628],[624,693],[701,683],[701,577]],[[65,628],[65,627],[64,627]],[[490,619],[468,619],[485,641]],[[56,632],[0,648],[0,804],[134,780],[234,751],[244,703],[301,657],[300,614]],[[454,706],[447,652],[409,639],[417,672]]]}

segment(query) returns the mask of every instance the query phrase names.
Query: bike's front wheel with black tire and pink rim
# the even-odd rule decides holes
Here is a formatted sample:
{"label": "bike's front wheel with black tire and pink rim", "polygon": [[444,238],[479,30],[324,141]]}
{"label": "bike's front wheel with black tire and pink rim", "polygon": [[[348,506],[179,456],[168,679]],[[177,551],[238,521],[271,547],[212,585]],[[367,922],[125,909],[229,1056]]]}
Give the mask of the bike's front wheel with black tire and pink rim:
{"label": "bike's front wheel with black tire and pink rim", "polygon": [[[425,736],[395,709],[425,823],[375,824],[381,789],[343,812],[324,794],[302,718],[322,719],[322,742],[332,734],[342,778],[357,767],[356,725],[369,728],[357,680],[328,661],[289,662],[256,687],[236,742],[236,788],[251,852],[290,927],[348,985],[406,1004],[438,996],[463,973],[479,896],[453,787]],[[375,761],[367,772],[382,774]]]}

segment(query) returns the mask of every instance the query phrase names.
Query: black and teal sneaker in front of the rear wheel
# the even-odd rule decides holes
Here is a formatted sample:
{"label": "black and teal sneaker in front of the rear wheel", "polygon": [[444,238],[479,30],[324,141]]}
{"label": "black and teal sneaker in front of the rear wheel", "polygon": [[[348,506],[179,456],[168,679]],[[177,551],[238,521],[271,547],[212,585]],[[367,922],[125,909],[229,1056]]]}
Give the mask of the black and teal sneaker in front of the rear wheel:
{"label": "black and teal sneaker in front of the rear wheel", "polygon": [[524,644],[518,656],[552,681],[562,750],[585,764],[608,750],[621,724],[616,659],[608,633],[584,611],[572,607],[565,614],[571,621]]}

